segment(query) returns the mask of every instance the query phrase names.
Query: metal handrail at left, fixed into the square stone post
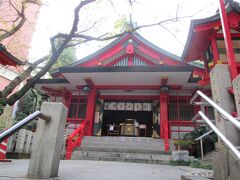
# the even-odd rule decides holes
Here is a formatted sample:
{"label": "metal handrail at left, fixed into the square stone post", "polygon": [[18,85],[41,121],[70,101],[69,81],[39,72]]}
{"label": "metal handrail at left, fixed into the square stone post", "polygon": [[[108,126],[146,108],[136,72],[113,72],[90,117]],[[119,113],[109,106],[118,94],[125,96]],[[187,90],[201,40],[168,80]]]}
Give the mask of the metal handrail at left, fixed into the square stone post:
{"label": "metal handrail at left, fixed into the square stone post", "polygon": [[31,121],[33,121],[35,118],[41,118],[45,121],[50,121],[50,117],[42,114],[40,111],[36,111],[32,114],[30,114],[29,116],[27,116],[26,118],[24,118],[23,120],[21,120],[20,122],[18,122],[17,124],[13,125],[12,127],[10,127],[8,130],[4,131],[3,133],[0,134],[0,143],[2,141],[4,141],[4,139],[8,138],[9,136],[13,135],[15,132],[17,132],[18,130],[20,130],[23,126],[25,126],[26,124],[30,123]]}

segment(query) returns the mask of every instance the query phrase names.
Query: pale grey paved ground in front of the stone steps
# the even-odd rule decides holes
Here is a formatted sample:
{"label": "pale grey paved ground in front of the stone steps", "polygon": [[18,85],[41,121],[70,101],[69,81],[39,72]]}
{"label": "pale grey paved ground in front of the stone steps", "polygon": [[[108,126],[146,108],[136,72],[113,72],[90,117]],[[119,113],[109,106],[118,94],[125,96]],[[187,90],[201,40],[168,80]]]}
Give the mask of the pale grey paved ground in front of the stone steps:
{"label": "pale grey paved ground in front of the stone steps", "polygon": [[[27,179],[29,160],[0,163],[0,180]],[[110,161],[62,160],[59,180],[180,180],[181,174],[194,169],[158,164]]]}

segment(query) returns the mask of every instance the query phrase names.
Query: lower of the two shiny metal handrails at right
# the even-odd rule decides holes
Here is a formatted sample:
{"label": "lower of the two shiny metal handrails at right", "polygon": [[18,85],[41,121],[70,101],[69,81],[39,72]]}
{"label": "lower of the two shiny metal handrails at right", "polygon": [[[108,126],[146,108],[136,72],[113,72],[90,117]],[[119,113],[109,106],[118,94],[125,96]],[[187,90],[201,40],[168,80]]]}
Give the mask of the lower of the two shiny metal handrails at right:
{"label": "lower of the two shiny metal handrails at right", "polygon": [[226,144],[226,146],[233,152],[233,154],[240,160],[240,152],[237,148],[217,129],[217,127],[208,119],[205,114],[201,111],[198,114],[208,123],[212,130],[221,138],[221,140]]}

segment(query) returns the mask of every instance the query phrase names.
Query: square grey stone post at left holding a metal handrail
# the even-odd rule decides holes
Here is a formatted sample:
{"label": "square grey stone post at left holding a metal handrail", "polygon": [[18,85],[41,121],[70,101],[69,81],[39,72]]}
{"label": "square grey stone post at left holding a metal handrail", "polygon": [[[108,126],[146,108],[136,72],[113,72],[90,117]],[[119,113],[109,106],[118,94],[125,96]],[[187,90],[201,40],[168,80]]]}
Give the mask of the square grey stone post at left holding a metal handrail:
{"label": "square grey stone post at left holding a metal handrail", "polygon": [[28,167],[27,177],[29,178],[58,176],[67,108],[62,103],[44,102],[41,112],[50,116],[51,120],[46,122],[39,119],[38,121]]}

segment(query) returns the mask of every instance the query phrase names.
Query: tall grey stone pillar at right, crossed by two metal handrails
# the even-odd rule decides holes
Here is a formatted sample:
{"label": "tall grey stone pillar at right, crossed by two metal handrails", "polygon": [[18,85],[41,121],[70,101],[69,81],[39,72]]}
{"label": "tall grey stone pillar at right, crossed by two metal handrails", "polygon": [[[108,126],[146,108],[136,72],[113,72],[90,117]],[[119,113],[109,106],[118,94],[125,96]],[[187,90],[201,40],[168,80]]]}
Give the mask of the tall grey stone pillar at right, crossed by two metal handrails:
{"label": "tall grey stone pillar at right, crossed by two metal handrails", "polygon": [[[210,72],[211,88],[213,101],[222,107],[225,111],[231,114],[235,111],[234,98],[229,93],[228,89],[232,87],[232,80],[228,65],[217,64]],[[228,120],[224,119],[215,110],[215,120],[217,128],[233,143],[239,144],[239,131]],[[219,142],[221,142],[219,140]],[[228,150],[218,143],[217,151],[212,155],[213,171],[216,180],[229,179],[229,169],[232,164],[228,161]]]}

